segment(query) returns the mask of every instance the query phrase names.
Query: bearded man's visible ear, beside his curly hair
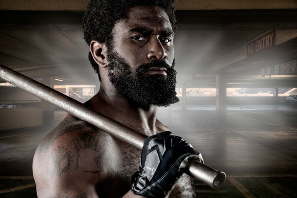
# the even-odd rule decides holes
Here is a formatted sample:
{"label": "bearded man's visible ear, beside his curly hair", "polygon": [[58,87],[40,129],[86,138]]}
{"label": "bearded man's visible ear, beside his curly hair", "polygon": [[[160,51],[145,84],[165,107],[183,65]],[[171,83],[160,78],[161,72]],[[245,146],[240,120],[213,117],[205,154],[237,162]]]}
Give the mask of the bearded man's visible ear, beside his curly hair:
{"label": "bearded man's visible ear, beside his curly hair", "polygon": [[92,41],[90,44],[90,51],[95,62],[98,63],[99,67],[106,67],[107,66],[107,48],[104,44],[101,44],[97,41]]}

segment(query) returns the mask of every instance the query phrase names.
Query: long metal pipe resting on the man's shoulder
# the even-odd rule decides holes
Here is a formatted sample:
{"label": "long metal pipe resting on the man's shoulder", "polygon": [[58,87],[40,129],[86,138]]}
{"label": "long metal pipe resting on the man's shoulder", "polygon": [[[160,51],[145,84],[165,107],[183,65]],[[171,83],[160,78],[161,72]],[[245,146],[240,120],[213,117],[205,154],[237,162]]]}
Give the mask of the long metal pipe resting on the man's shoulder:
{"label": "long metal pipe resting on the man's shoulder", "polygon": [[[83,105],[75,99],[71,99],[3,65],[0,65],[0,78],[38,98],[46,100],[131,146],[139,149],[143,148],[144,141],[147,138],[146,135],[99,113],[91,107]],[[224,172],[213,169],[197,160],[189,160],[188,168],[189,170],[186,171],[187,174],[206,183],[211,188],[219,189],[225,181],[226,175]]]}

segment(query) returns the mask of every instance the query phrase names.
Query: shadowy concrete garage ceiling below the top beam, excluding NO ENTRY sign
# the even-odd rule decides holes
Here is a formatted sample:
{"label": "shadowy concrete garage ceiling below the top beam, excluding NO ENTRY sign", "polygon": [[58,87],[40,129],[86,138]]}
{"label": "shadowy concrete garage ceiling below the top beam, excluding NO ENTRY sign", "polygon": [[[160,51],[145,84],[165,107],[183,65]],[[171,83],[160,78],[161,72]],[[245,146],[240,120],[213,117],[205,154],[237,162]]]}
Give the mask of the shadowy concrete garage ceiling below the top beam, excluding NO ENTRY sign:
{"label": "shadowy concrete garage ceiling below the top beam, excluding NO ENTRY sign", "polygon": [[[97,84],[83,40],[82,13],[0,11],[0,64],[30,77],[51,75],[69,83]],[[176,17],[179,29],[174,46],[180,84],[195,75],[259,75],[261,67],[297,58],[296,9],[178,10]],[[226,54],[275,29],[285,31],[282,45],[244,59],[234,55],[231,58],[236,61],[231,64],[217,65]]]}

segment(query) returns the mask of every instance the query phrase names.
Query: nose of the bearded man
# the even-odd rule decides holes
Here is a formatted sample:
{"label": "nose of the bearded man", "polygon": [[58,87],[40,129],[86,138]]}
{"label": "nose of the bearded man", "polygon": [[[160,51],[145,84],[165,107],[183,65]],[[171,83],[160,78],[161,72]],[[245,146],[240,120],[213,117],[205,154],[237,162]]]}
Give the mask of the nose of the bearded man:
{"label": "nose of the bearded man", "polygon": [[167,53],[163,48],[161,42],[155,38],[149,43],[148,59],[164,60],[167,57]]}

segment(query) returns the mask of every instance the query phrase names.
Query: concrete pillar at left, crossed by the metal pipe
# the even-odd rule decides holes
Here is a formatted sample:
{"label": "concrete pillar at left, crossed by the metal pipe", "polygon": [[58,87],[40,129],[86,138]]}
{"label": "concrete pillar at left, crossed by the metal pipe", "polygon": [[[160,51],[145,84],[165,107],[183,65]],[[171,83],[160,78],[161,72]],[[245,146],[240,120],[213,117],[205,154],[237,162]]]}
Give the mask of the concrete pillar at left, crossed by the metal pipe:
{"label": "concrete pillar at left, crossed by the metal pipe", "polygon": [[[42,83],[53,89],[54,78],[51,76],[45,76],[42,78]],[[42,116],[43,126],[49,126],[54,124],[54,106],[49,104],[45,100],[41,100],[42,103]]]}

